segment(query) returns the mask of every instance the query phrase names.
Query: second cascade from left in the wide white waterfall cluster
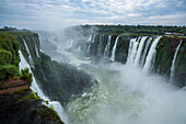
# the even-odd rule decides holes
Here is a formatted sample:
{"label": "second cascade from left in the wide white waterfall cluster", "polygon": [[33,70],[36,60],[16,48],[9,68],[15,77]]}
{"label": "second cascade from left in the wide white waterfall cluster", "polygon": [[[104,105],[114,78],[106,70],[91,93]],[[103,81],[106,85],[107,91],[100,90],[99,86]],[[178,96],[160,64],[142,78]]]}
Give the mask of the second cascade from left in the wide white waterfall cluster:
{"label": "second cascade from left in the wide white waterfall cluster", "polygon": [[137,52],[137,55],[136,55],[136,59],[135,59],[135,65],[138,65],[139,64],[139,59],[141,57],[141,52],[142,52],[142,48],[143,48],[143,45],[144,45],[144,42],[147,40],[148,36],[143,36],[140,41],[140,44],[139,44],[139,47],[138,47],[138,52]]}

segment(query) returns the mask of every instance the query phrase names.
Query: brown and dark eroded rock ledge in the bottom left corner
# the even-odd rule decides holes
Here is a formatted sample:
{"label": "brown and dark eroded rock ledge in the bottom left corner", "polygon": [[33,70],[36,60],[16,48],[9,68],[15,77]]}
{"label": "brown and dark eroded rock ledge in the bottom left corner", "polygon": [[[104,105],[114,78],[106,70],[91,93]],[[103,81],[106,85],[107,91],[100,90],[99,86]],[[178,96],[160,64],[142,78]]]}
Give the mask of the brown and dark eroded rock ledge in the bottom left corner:
{"label": "brown and dark eroded rock ledge in the bottom left corner", "polygon": [[63,124],[57,113],[24,80],[9,79],[0,84],[0,124]]}

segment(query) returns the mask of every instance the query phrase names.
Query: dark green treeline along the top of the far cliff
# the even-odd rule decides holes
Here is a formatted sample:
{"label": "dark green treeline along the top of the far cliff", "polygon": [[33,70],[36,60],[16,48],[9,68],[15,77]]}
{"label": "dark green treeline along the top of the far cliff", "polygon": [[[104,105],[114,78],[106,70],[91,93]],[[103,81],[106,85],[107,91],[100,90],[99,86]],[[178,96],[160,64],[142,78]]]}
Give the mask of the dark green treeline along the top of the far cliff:
{"label": "dark green treeline along the top of the far cliff", "polygon": [[84,30],[94,29],[98,33],[133,33],[163,35],[165,33],[183,33],[186,36],[185,26],[163,26],[163,25],[81,25]]}

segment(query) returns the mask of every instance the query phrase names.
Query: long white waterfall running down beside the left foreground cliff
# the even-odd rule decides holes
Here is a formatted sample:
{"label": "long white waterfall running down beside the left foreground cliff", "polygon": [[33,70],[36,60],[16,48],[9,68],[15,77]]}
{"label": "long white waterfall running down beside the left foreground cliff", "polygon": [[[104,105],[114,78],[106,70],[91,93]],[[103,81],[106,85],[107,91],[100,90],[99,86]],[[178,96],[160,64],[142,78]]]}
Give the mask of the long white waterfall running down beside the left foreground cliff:
{"label": "long white waterfall running down beside the left foreground cliff", "polygon": [[[21,50],[19,50],[19,54],[20,54],[20,58],[21,58],[21,61],[20,61],[20,65],[19,65],[20,70],[24,69],[24,68],[28,68],[30,72],[32,72],[32,69],[31,69],[30,65],[27,64],[26,59],[24,58]],[[58,101],[50,101],[49,98],[44,94],[44,92],[40,90],[40,88],[38,87],[38,84],[37,84],[37,82],[35,80],[34,74],[33,74],[33,81],[31,83],[31,89],[34,92],[36,92],[37,95],[40,99],[43,99],[45,101],[48,101],[48,104],[46,104],[46,103],[44,103],[44,104],[49,106],[49,108],[53,108],[58,113],[61,121],[63,121],[66,124],[68,124],[68,119],[67,119],[67,116],[65,114],[65,111],[63,111],[63,108],[61,106],[61,104]]]}

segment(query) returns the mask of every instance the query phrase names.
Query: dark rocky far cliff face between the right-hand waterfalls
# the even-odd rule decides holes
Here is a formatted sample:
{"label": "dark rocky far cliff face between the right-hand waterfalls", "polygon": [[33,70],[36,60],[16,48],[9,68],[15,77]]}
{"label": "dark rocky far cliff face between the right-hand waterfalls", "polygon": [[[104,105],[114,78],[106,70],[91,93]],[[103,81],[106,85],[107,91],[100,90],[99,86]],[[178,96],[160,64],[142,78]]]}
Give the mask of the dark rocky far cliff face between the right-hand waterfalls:
{"label": "dark rocky far cliff face between the right-hand waterfalls", "polygon": [[[108,52],[108,56],[105,57],[105,50],[109,41],[109,36],[112,36],[111,40],[111,46],[109,49],[107,49]],[[106,60],[111,60],[112,57],[112,50],[114,47],[114,44],[116,42],[116,37],[118,35],[116,34],[94,34],[91,38],[91,41],[84,41],[83,40],[80,43],[77,43],[73,46],[73,49],[75,49],[75,47],[80,47],[81,46],[81,54],[83,53],[83,55],[94,58],[96,60],[98,59],[105,59]],[[152,40],[149,40],[149,38]],[[141,67],[143,67],[147,55],[144,54],[144,52],[147,50],[147,53],[150,50],[150,46],[152,45],[152,43],[154,42],[156,36],[149,36],[146,38],[143,47],[141,48],[141,54],[140,54],[140,64]],[[133,53],[133,57],[137,56],[137,49],[140,46],[140,41],[142,38],[142,36],[139,35],[121,35],[118,38],[118,43],[117,43],[117,47],[116,47],[116,52],[115,52],[115,61],[119,61],[119,63],[124,63],[126,64],[127,61],[127,57],[128,57],[128,52],[129,52],[129,44],[130,44],[130,40],[131,38],[136,38],[137,42],[137,47],[136,47],[136,53]],[[149,47],[147,47],[147,43],[149,40]],[[177,54],[177,58],[176,58],[176,64],[175,64],[175,76],[174,76],[174,82],[175,86],[178,87],[184,87],[185,86],[185,81],[186,81],[186,38],[185,37],[177,37],[177,36],[163,36],[161,37],[161,40],[159,41],[156,48],[155,48],[155,57],[153,59],[153,64],[151,67],[153,72],[160,74],[162,76],[165,76],[167,79],[171,77],[171,66],[172,66],[172,60],[176,50],[177,45],[179,44],[181,40],[183,40],[183,43],[181,45],[181,48],[178,50]],[[85,44],[85,46],[84,46]],[[89,48],[89,50],[88,50]],[[100,50],[101,49],[101,50]],[[142,61],[142,55],[144,57],[144,61]]]}

